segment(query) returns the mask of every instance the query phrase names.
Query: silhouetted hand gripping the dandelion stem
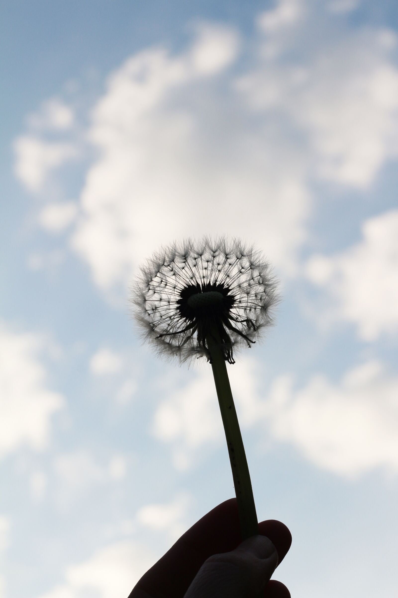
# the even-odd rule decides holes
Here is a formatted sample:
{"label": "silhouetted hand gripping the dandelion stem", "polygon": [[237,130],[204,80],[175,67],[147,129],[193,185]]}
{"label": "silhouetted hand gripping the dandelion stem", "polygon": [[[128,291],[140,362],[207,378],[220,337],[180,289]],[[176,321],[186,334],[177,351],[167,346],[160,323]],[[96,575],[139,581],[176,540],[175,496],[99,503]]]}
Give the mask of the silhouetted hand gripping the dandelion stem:
{"label": "silhouetted hand gripping the dandelion stem", "polygon": [[175,542],[128,598],[290,598],[285,585],[269,580],[291,533],[275,520],[261,521],[258,530],[240,542],[236,499],[222,502]]}

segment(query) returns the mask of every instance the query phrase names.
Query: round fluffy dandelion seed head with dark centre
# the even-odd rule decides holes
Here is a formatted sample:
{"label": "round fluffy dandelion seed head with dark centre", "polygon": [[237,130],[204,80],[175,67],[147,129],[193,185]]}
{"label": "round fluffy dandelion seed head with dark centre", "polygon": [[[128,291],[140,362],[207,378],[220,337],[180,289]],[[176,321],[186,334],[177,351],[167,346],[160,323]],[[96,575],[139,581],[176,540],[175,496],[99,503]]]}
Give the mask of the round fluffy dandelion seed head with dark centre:
{"label": "round fluffy dandelion seed head with dark centre", "polygon": [[258,251],[237,239],[204,237],[162,249],[132,287],[135,318],[159,353],[181,361],[206,356],[218,342],[224,358],[251,346],[271,324],[276,280]]}

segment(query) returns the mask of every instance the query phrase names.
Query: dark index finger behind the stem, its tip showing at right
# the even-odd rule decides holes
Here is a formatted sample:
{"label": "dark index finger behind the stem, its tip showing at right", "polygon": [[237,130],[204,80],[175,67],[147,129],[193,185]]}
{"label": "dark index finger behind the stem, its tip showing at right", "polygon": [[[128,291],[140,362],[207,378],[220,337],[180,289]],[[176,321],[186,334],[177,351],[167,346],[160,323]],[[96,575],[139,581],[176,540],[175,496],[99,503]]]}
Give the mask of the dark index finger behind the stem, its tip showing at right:
{"label": "dark index finger behind the stem, its tip showing at right", "polygon": [[[291,544],[288,528],[280,521],[262,521],[259,533],[270,538],[280,563]],[[237,504],[233,498],[222,502],[190,527],[143,575],[129,598],[138,598],[138,590],[153,598],[183,598],[206,559],[212,554],[234,550],[241,541]]]}

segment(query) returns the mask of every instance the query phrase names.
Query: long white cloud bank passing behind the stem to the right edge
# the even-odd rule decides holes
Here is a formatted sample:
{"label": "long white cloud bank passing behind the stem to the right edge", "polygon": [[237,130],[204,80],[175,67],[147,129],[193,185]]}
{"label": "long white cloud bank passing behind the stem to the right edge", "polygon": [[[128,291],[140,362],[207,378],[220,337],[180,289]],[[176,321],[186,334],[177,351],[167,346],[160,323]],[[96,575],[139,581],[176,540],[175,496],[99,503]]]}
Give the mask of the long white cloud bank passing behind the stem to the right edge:
{"label": "long white cloud bank passing behind the stem to the right edge", "polygon": [[[322,469],[343,476],[375,467],[398,473],[398,379],[378,362],[347,371],[333,384],[321,374],[295,390],[290,376],[261,392],[254,359],[229,368],[242,429],[266,429],[274,443],[288,443]],[[177,469],[192,466],[203,446],[221,446],[224,432],[211,371],[192,372],[189,382],[163,399],[153,434],[171,445]],[[176,385],[168,379],[166,388]]]}

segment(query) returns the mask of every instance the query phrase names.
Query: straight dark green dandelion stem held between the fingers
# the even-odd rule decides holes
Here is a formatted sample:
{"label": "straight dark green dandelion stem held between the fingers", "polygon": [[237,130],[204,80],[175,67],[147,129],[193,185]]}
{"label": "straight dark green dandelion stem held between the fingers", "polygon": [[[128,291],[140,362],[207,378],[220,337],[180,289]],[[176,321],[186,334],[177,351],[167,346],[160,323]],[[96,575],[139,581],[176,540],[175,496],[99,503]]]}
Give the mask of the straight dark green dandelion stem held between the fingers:
{"label": "straight dark green dandelion stem held between the fingers", "polygon": [[209,341],[211,367],[213,370],[218,404],[220,405],[226,435],[229,459],[235,486],[237,511],[239,514],[242,541],[258,534],[258,521],[255,511],[253,490],[251,486],[248,462],[242,435],[240,434],[235,405],[232,398],[227,366],[220,344]]}

